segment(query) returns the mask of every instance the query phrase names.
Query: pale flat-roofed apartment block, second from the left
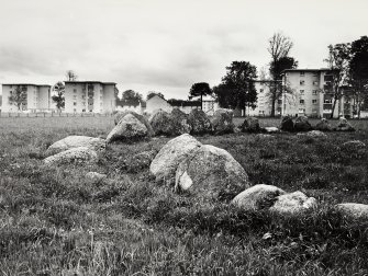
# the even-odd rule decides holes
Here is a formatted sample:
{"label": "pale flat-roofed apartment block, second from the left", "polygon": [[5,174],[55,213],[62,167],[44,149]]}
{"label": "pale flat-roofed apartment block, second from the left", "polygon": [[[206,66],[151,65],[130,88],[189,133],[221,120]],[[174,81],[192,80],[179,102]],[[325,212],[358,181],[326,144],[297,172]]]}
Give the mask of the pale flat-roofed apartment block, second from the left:
{"label": "pale flat-roofed apartment block, second from the left", "polygon": [[116,83],[66,81],[66,113],[112,113],[116,108]]}

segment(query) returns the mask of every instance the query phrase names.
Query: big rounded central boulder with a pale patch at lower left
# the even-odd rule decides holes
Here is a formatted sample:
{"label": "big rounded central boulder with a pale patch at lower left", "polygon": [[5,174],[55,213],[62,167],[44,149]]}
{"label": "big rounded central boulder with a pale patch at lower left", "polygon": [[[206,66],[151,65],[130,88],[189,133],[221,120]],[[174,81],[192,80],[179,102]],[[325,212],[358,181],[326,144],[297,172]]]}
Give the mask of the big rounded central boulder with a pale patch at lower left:
{"label": "big rounded central boulder with a pale patch at lower left", "polygon": [[202,198],[231,199],[247,187],[243,166],[226,150],[210,145],[193,151],[176,171],[175,189]]}

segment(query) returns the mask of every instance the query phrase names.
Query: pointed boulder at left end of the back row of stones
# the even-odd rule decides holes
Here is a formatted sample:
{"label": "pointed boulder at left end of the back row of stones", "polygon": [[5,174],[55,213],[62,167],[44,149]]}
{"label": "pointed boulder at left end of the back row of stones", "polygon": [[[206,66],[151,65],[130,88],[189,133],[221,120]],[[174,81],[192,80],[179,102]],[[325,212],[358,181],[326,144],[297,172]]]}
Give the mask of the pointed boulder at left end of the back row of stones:
{"label": "pointed boulder at left end of the back row of stones", "polygon": [[147,128],[133,114],[126,114],[107,137],[107,143],[114,140],[132,141],[147,136]]}

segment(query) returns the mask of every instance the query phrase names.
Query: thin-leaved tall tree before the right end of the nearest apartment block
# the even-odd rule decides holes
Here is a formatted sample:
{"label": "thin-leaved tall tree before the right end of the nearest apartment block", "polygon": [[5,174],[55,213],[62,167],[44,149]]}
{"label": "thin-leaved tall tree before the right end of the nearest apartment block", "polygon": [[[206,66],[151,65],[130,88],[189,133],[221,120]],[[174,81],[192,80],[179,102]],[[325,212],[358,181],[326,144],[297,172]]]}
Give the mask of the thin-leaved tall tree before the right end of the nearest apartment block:
{"label": "thin-leaved tall tree before the right end of the nearest apartment block", "polygon": [[[332,80],[327,85],[327,91],[333,95],[333,105],[331,118],[334,117],[334,111],[336,108],[337,101],[341,101],[343,96],[343,85],[347,81],[348,77],[348,65],[350,59],[350,45],[349,44],[336,44],[328,45],[328,58],[325,61],[328,64],[331,69]],[[339,105],[338,105],[339,107]],[[338,114],[341,111],[338,110]]]}

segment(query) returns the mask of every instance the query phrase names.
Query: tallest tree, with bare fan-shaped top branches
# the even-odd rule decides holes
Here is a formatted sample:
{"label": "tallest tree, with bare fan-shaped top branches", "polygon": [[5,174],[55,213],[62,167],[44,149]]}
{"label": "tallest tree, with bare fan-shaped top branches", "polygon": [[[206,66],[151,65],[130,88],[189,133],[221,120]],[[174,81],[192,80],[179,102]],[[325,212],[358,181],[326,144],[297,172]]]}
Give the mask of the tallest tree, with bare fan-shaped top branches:
{"label": "tallest tree, with bare fan-shaped top branches", "polygon": [[292,69],[298,67],[298,61],[288,57],[293,44],[291,39],[285,36],[282,33],[275,33],[268,41],[268,53],[271,55],[271,61],[269,64],[269,72],[271,80],[268,83],[269,93],[267,95],[271,104],[271,117],[275,117],[276,102],[277,100],[288,91],[292,93],[290,89],[282,89],[282,71],[286,69]]}

